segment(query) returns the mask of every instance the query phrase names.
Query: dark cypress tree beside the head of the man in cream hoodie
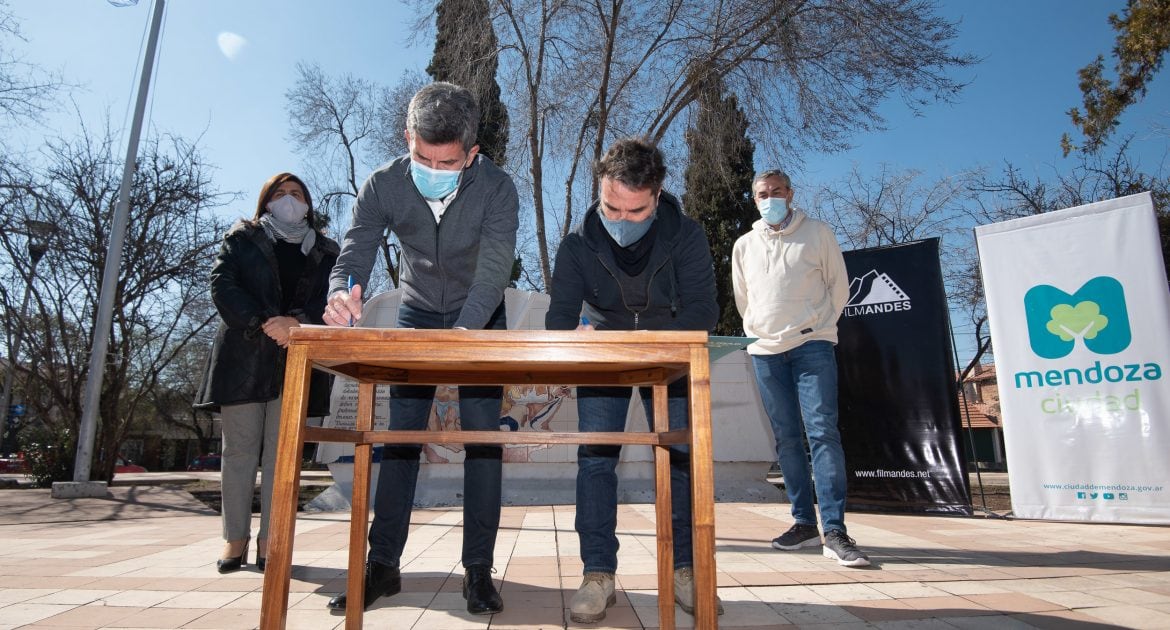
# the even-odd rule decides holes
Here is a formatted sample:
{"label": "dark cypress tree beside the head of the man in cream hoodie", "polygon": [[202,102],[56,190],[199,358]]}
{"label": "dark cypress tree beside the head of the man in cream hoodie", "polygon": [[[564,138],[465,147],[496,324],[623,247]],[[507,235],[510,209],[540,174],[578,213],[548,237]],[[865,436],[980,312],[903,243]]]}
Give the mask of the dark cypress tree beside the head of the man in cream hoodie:
{"label": "dark cypress tree beside the head of the man in cream hoodie", "polygon": [[751,199],[755,145],[748,139],[748,118],[734,94],[723,94],[722,82],[707,84],[696,115],[687,129],[687,193],[682,205],[703,225],[715,262],[718,294],[717,335],[743,335],[743,320],[731,290],[731,248],[759,218]]}

